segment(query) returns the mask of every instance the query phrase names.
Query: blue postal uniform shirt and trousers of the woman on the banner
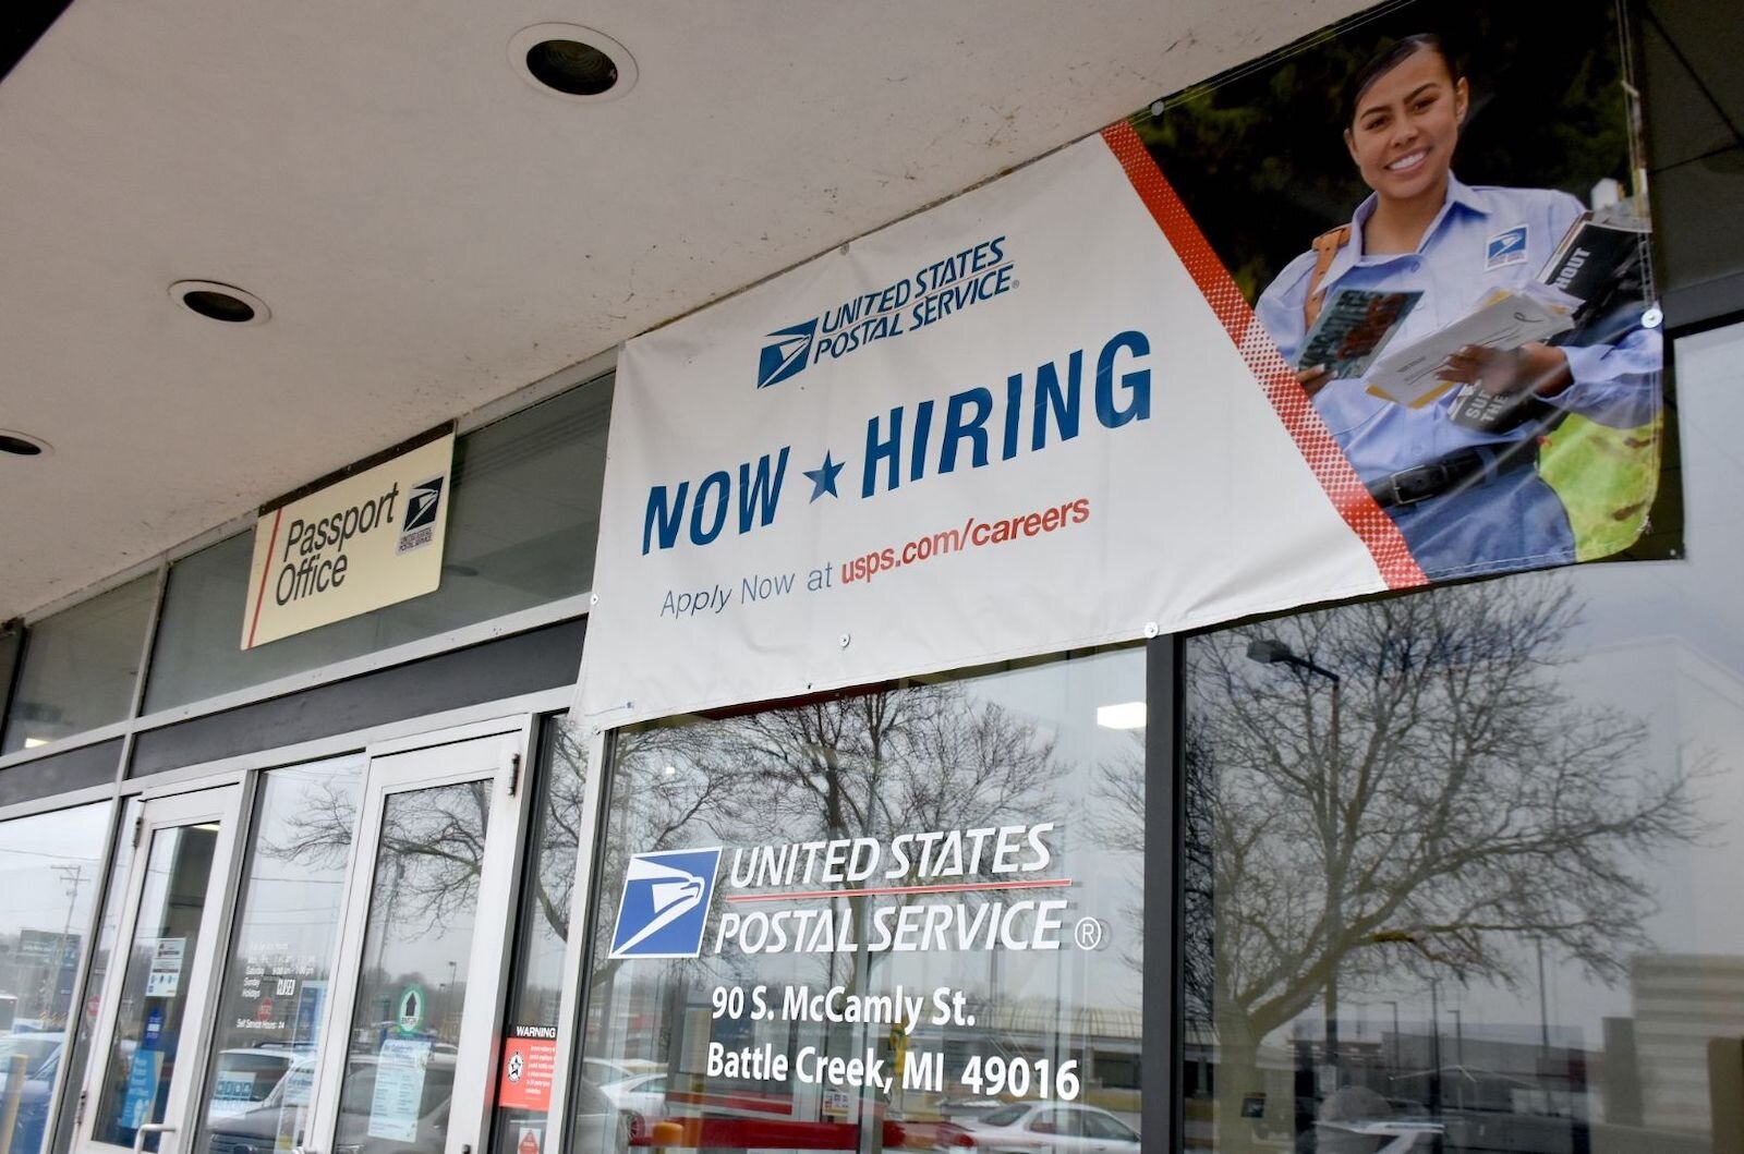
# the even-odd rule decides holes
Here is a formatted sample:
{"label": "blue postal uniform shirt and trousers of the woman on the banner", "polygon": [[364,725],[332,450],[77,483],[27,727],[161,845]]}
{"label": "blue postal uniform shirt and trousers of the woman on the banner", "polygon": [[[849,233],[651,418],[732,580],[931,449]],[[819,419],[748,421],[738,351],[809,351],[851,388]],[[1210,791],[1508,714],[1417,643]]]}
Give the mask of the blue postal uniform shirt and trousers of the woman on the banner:
{"label": "blue postal uniform shirt and trousers of the woman on the banner", "polygon": [[[1580,216],[1580,202],[1545,188],[1468,187],[1448,180],[1441,206],[1416,253],[1366,255],[1362,227],[1374,213],[1371,195],[1352,218],[1350,241],[1338,251],[1320,288],[1421,291],[1386,352],[1404,349],[1467,316],[1495,289],[1545,293],[1538,272]],[[1256,316],[1291,364],[1301,352],[1313,272],[1313,251],[1291,261],[1261,295]],[[1550,404],[1599,424],[1632,429],[1659,411],[1660,335],[1631,329],[1617,345],[1563,345],[1573,382]],[[1538,434],[1536,422],[1505,432],[1453,424],[1458,390],[1411,410],[1369,396],[1360,380],[1332,380],[1315,394],[1315,410],[1364,483],[1437,462],[1461,450],[1496,450]],[[1575,560],[1575,537],[1563,502],[1536,469],[1496,472],[1482,481],[1414,506],[1390,507],[1393,521],[1430,577],[1463,577]]]}

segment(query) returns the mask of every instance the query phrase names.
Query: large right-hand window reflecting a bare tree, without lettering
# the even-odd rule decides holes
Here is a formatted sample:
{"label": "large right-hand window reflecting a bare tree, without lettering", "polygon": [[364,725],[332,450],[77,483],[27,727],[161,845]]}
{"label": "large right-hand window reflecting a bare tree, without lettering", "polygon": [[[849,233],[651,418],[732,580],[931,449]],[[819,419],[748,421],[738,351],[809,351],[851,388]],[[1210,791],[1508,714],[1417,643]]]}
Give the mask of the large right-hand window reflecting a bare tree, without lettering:
{"label": "large right-hand window reflecting a bare tree, without lettering", "polygon": [[1678,345],[1688,561],[1188,643],[1191,1149],[1744,1149],[1741,356]]}

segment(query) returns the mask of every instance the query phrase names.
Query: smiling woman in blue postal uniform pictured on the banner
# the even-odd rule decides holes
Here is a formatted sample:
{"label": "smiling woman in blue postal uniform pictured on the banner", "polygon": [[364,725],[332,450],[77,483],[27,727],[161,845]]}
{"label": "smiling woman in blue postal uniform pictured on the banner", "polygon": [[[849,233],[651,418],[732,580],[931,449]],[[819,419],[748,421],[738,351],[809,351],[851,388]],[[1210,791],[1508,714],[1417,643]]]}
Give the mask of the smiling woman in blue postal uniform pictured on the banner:
{"label": "smiling woman in blue postal uniform pictured on the banner", "polygon": [[[1315,237],[1254,312],[1428,577],[1573,561],[1570,514],[1536,469],[1540,443],[1570,415],[1611,429],[1653,422],[1659,333],[1638,322],[1639,302],[1625,321],[1594,326],[1580,300],[1542,282],[1584,220],[1580,200],[1454,176],[1475,98],[1439,37],[1383,42],[1346,91],[1343,143],[1371,195],[1350,223]],[[1411,349],[1430,349],[1491,305],[1519,321],[1542,310],[1549,322]],[[1324,309],[1329,321],[1360,317],[1371,336],[1381,333],[1369,356],[1352,356],[1355,333],[1341,343],[1317,326]],[[1430,357],[1427,390],[1376,387],[1371,359],[1386,336],[1399,356]],[[1655,445],[1650,431],[1641,439]]]}

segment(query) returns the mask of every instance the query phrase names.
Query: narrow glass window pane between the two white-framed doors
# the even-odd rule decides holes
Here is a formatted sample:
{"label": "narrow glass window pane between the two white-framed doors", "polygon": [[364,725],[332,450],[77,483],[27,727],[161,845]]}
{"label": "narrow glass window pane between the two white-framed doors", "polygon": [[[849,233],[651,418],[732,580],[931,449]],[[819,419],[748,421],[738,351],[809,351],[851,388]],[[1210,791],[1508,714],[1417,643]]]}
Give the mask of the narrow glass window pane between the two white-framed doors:
{"label": "narrow glass window pane between the two white-framed doors", "polygon": [[351,757],[262,777],[194,1151],[303,1142],[363,770]]}

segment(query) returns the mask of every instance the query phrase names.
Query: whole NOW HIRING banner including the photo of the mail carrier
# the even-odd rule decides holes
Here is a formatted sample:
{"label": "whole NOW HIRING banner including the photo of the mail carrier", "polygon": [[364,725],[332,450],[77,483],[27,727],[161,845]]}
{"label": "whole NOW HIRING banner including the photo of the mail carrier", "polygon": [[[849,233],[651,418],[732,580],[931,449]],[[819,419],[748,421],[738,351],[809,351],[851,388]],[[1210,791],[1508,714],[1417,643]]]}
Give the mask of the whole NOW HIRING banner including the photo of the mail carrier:
{"label": "whole NOW HIRING banner including the photo of the mail carrier", "polygon": [[631,340],[579,715],[1671,554],[1627,26],[1385,5]]}

